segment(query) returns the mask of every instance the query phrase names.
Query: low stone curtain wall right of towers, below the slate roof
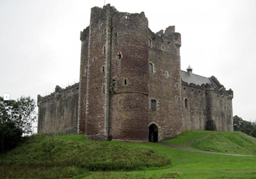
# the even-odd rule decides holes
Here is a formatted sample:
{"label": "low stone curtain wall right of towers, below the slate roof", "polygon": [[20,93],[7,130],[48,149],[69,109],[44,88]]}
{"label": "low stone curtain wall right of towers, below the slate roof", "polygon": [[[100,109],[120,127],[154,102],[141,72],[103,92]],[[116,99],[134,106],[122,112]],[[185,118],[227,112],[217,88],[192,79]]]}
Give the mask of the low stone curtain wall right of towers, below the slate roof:
{"label": "low stone curtain wall right of towers, below the slate roof", "polygon": [[182,82],[181,98],[183,130],[233,131],[232,90]]}

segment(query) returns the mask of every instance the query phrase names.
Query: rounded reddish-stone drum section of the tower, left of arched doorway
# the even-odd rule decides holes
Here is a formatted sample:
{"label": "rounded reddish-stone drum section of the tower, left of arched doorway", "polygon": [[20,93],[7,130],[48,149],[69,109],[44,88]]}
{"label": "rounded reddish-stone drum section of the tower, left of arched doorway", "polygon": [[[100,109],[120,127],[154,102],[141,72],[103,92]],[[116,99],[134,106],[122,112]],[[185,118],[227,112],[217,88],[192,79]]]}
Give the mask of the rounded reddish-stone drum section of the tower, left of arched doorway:
{"label": "rounded reddish-stone drum section of the tower, left of arched doorway", "polygon": [[112,16],[110,135],[148,141],[148,20],[144,13]]}

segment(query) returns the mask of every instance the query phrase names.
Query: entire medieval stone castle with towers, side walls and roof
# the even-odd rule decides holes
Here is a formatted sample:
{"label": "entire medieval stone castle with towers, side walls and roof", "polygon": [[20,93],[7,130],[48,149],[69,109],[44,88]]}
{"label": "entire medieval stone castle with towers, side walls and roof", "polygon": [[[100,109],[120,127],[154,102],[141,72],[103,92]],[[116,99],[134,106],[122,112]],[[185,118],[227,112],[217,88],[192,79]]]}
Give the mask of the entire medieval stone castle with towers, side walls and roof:
{"label": "entire medieval stone castle with towers, side walls and roof", "polygon": [[233,131],[233,91],[180,69],[181,35],[153,33],[144,12],[91,9],[79,83],[37,96],[38,133],[157,142],[183,130]]}

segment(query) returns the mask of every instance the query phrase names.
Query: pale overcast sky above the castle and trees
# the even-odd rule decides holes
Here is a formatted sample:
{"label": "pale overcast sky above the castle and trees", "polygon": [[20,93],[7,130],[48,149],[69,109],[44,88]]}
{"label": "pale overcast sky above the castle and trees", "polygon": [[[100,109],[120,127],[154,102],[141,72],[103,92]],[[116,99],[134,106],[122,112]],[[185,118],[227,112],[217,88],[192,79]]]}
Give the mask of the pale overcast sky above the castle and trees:
{"label": "pale overcast sky above the castle and trees", "polygon": [[[256,118],[256,0],[105,0],[181,33],[181,69],[232,88],[233,115]],[[0,95],[37,98],[79,80],[80,31],[104,0],[0,0]]]}

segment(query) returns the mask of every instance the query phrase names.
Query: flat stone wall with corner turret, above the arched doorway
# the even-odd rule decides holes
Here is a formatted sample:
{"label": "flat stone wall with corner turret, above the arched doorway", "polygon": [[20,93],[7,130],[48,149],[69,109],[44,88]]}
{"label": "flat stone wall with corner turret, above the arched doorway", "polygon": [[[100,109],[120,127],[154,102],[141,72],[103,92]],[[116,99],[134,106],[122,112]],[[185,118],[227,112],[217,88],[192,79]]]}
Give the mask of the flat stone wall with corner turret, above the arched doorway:
{"label": "flat stone wall with corner turret, above the arched doorway", "polygon": [[[149,31],[151,45],[149,63],[153,73],[149,74],[148,126],[158,127],[158,140],[174,137],[182,132],[180,92],[180,34],[174,26],[154,34]],[[150,101],[157,102],[151,110]]]}

